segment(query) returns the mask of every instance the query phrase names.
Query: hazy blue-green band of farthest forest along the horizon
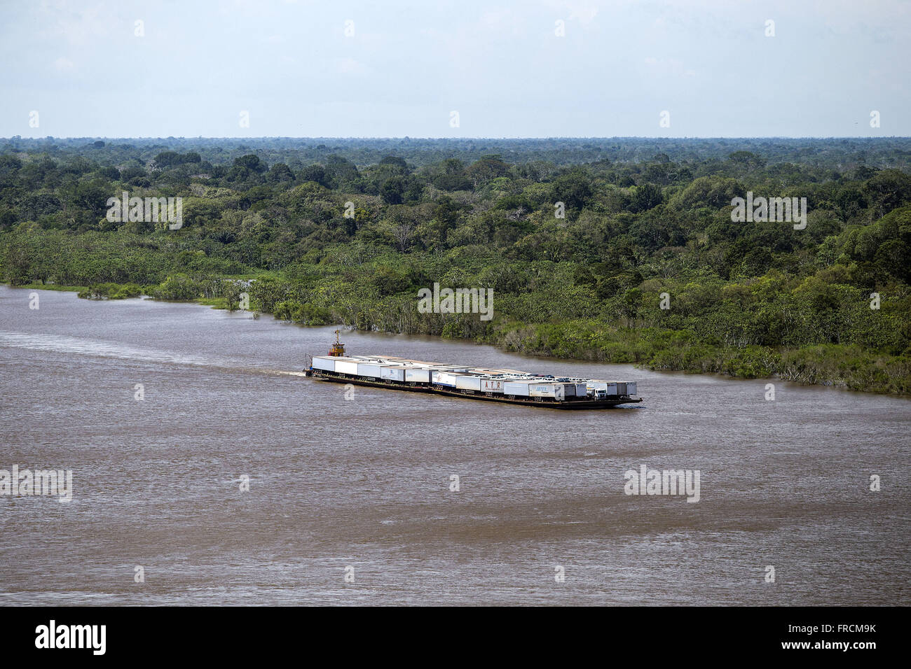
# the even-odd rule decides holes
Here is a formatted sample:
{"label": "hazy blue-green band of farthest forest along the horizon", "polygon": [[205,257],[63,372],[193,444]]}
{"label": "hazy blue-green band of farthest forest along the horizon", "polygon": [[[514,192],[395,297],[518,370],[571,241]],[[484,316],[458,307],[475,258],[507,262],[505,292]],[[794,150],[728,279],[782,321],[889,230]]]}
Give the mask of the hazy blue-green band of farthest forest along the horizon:
{"label": "hazy blue-green band of farthest forest along the horizon", "polygon": [[[44,137],[0,138],[0,152],[46,153],[51,157],[87,157],[99,165],[146,166],[161,153],[197,154],[212,165],[230,165],[234,159],[254,154],[272,165],[284,163],[293,169],[325,164],[331,156],[342,157],[358,167],[375,165],[386,156],[402,157],[415,167],[424,167],[457,157],[471,163],[496,154],[508,163],[548,162],[558,167],[609,160],[639,163],[657,154],[674,162],[724,161],[735,151],[750,151],[768,163],[799,163],[844,170],[858,165],[911,166],[909,137],[815,138],[646,138],[583,137],[546,139],[422,139],[415,137],[349,139],[340,137],[251,137],[244,139],[204,137],[107,138]],[[197,161],[199,162],[199,161]]]}

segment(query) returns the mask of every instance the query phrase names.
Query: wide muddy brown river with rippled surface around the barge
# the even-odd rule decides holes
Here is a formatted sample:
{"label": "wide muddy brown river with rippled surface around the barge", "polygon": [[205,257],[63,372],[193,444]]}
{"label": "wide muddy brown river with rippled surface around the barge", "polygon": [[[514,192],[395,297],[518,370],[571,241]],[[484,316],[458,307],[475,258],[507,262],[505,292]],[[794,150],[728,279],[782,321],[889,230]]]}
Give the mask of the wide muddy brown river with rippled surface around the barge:
{"label": "wide muddy brown river with rippled surface around the barge", "polygon": [[[0,496],[0,604],[911,603],[909,400],[344,332],[645,398],[345,400],[286,373],[332,340],[0,286],[0,469],[73,472],[70,502]],[[699,501],[626,494],[641,465],[699,471]]]}

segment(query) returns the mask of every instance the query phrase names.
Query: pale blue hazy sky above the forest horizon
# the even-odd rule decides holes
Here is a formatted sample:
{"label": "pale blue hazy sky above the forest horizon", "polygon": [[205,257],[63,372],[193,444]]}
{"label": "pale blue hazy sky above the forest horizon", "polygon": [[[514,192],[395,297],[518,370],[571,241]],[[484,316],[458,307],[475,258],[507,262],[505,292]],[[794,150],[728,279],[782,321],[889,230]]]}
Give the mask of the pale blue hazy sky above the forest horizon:
{"label": "pale blue hazy sky above the forest horizon", "polygon": [[908,0],[0,0],[0,137],[911,136],[909,37]]}

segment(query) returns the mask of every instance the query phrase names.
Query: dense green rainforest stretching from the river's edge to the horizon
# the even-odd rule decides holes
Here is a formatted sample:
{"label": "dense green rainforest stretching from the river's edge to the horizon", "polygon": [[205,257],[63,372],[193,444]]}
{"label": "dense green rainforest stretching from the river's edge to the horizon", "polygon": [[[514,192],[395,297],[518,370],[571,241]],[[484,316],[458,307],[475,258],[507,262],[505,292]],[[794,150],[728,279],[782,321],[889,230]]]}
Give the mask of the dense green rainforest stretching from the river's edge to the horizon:
{"label": "dense green rainforest stretching from the river's edge to the horizon", "polygon": [[[327,146],[329,145],[329,146]],[[6,141],[0,273],[911,394],[911,140]],[[183,198],[179,229],[107,199]],[[732,199],[806,198],[806,227]],[[560,217],[560,214],[563,216]],[[230,279],[230,280],[226,280]],[[420,313],[434,283],[494,318]]]}

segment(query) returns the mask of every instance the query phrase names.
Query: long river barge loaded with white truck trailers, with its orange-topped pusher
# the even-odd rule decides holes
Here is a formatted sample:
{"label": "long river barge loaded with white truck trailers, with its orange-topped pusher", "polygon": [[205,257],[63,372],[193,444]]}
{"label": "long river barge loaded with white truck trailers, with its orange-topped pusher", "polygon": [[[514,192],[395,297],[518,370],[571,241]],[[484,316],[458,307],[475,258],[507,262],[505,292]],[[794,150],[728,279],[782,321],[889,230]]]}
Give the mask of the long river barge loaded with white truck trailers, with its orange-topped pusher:
{"label": "long river barge loaded with white truck trailers, with its orange-topped pusher", "polygon": [[335,383],[548,409],[610,409],[642,401],[637,397],[634,381],[486,370],[394,356],[346,355],[338,330],[329,354],[313,356],[303,372],[307,377]]}

